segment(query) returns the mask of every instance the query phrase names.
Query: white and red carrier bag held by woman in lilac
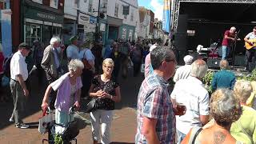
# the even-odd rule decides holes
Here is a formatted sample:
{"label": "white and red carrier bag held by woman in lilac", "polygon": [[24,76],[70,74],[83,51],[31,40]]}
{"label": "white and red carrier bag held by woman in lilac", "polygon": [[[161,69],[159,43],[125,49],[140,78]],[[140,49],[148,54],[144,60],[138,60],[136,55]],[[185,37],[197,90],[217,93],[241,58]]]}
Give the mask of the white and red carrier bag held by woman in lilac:
{"label": "white and red carrier bag held by woman in lilac", "polygon": [[42,111],[42,117],[39,118],[38,131],[40,134],[47,132],[48,126],[54,121],[53,114],[46,114],[46,109]]}

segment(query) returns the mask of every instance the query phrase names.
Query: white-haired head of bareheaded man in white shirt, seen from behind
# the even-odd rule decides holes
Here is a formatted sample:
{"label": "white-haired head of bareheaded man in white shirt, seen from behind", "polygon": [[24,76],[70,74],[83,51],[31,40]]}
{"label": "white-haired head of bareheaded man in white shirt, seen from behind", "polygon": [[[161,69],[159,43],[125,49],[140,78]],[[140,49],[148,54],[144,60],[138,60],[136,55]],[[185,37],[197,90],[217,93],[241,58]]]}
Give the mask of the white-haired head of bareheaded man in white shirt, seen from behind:
{"label": "white-haired head of bareheaded man in white shirt, seen from behind", "polygon": [[205,77],[207,70],[208,70],[208,66],[206,65],[206,62],[198,59],[196,61],[194,61],[191,65],[191,72],[190,75],[195,77],[195,78],[203,78]]}

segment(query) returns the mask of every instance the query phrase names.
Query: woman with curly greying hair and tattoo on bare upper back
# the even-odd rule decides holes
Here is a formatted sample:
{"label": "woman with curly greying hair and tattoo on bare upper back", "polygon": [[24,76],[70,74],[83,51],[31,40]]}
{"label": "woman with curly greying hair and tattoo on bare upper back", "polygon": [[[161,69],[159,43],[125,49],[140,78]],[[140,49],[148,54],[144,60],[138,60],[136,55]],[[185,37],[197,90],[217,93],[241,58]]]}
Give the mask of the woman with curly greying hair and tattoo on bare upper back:
{"label": "woman with curly greying hair and tattoo on bare upper back", "polygon": [[210,113],[214,118],[210,126],[192,128],[182,144],[241,143],[230,134],[232,122],[242,114],[240,103],[232,90],[218,89],[211,95]]}

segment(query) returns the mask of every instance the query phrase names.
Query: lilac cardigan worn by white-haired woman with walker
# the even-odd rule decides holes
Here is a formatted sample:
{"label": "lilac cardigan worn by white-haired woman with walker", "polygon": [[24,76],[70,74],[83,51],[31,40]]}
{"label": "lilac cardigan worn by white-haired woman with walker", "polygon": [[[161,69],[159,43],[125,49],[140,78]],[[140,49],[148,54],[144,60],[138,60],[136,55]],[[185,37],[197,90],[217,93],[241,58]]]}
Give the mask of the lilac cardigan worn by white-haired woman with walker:
{"label": "lilac cardigan worn by white-haired woman with walker", "polygon": [[[62,112],[69,112],[70,109],[70,93],[71,93],[71,84],[70,84],[70,72],[62,75],[61,78],[58,78],[55,82],[52,82],[50,86],[54,91],[58,90],[55,108]],[[78,90],[82,87],[81,77],[77,78],[76,81],[76,94],[74,97],[74,102],[78,101]]]}

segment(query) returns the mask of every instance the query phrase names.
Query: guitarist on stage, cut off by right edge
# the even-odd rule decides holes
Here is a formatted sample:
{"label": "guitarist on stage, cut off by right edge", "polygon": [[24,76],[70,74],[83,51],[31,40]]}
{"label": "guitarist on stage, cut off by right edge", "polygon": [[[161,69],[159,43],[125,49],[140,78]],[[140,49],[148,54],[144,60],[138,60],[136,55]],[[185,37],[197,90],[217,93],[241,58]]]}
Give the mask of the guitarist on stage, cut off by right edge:
{"label": "guitarist on stage, cut off by right edge", "polygon": [[256,26],[254,26],[253,32],[250,32],[244,38],[246,44],[246,70],[253,70],[254,68],[250,68],[249,64],[252,62],[252,58],[255,56],[256,50]]}

